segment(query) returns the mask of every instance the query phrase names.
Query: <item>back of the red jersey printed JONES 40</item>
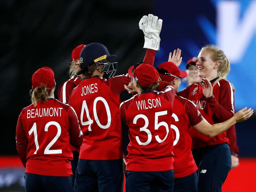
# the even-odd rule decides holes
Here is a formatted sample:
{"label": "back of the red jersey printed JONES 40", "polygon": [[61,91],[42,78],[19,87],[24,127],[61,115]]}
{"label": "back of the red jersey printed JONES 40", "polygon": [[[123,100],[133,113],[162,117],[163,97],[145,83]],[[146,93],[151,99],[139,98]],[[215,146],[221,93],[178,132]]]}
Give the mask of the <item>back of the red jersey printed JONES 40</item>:
{"label": "back of the red jersey printed JONES 40", "polygon": [[[128,79],[127,76],[125,78]],[[94,76],[83,80],[71,93],[70,105],[77,112],[85,135],[80,159],[122,158],[120,98],[119,94],[111,91],[113,80]]]}

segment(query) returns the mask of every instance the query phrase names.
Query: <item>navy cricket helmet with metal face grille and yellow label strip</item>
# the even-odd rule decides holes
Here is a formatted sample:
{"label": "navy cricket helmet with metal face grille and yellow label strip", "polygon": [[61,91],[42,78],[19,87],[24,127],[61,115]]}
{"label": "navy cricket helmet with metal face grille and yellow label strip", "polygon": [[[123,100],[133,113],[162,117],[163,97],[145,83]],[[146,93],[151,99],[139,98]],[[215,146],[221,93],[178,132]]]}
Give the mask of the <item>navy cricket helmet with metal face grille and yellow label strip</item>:
{"label": "navy cricket helmet with metal face grille and yellow label strip", "polygon": [[86,45],[80,53],[80,65],[88,66],[96,63],[97,67],[111,78],[117,71],[118,62],[110,63],[107,59],[116,57],[110,55],[107,48],[101,43],[90,43]]}

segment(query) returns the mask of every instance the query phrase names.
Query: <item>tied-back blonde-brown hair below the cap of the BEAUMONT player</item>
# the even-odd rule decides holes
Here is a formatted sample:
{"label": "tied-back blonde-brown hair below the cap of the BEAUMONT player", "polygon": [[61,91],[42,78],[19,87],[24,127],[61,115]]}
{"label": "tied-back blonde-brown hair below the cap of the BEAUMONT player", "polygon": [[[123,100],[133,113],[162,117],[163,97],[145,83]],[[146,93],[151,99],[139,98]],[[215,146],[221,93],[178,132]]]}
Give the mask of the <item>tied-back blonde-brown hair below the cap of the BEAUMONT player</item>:
{"label": "tied-back blonde-brown hair below the cap of the BEAUMONT player", "polygon": [[41,85],[40,87],[36,87],[34,90],[30,90],[31,102],[34,106],[37,106],[38,101],[47,101],[49,93],[47,92],[47,88],[45,85]]}

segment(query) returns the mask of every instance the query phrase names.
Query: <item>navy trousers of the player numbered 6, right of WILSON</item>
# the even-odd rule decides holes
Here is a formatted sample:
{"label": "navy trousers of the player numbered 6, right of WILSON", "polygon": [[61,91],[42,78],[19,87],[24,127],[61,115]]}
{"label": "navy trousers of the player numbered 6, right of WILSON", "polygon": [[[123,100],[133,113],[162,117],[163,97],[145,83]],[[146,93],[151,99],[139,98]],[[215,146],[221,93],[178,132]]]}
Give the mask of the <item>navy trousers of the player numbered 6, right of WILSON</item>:
{"label": "navy trousers of the player numbered 6, right of WILSON", "polygon": [[186,177],[175,178],[173,192],[196,192],[197,191],[197,172]]}

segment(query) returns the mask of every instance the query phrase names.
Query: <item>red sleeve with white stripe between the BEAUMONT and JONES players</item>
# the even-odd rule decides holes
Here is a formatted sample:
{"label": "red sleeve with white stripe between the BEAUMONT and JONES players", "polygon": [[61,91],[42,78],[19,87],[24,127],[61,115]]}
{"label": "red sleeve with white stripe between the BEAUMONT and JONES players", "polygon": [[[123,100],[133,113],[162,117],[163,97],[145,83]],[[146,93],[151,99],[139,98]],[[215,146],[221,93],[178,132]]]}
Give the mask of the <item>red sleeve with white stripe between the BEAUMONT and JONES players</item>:
{"label": "red sleeve with white stripe between the BEAUMONT and JONES players", "polygon": [[69,102],[71,91],[74,89],[74,87],[74,83],[70,81],[66,81],[65,83],[63,83],[63,86],[61,86],[58,91],[59,101],[67,104]]}

